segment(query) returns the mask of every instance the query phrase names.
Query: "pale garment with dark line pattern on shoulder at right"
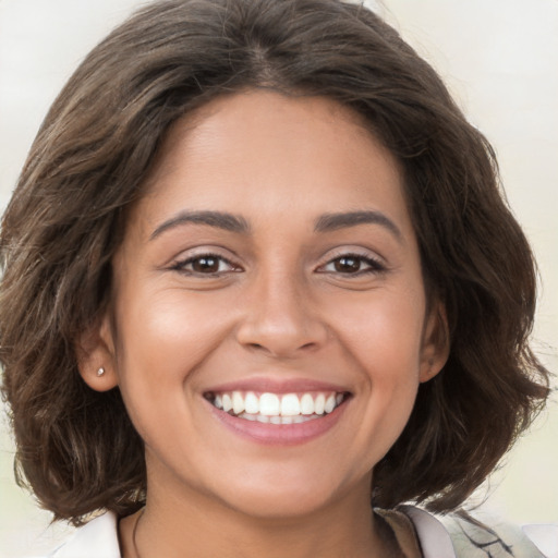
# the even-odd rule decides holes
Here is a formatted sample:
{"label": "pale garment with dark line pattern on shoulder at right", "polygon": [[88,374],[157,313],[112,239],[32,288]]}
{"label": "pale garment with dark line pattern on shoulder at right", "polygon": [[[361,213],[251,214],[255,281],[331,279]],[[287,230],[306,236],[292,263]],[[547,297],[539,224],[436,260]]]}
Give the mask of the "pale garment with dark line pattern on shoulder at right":
{"label": "pale garment with dark line pattern on shoulder at right", "polygon": [[558,558],[558,525],[520,527],[493,517],[434,515],[405,506],[424,558]]}

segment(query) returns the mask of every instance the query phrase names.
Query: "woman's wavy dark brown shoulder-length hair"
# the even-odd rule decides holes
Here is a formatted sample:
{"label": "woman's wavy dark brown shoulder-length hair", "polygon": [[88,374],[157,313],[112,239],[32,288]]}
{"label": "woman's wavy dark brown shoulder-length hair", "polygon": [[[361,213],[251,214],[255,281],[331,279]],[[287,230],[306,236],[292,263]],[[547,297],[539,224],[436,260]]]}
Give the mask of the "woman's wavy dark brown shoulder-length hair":
{"label": "woman's wavy dark brown shoulder-length hair", "polygon": [[16,477],[56,519],[145,501],[143,442],[118,388],[77,368],[111,300],[128,209],[169,125],[255,87],[351,107],[396,156],[428,299],[450,354],[376,465],[375,506],[461,505],[548,395],[529,345],[532,252],[494,151],[436,72],[372,11],[341,0],[163,0],[83,61],[48,112],[3,216],[0,360]]}

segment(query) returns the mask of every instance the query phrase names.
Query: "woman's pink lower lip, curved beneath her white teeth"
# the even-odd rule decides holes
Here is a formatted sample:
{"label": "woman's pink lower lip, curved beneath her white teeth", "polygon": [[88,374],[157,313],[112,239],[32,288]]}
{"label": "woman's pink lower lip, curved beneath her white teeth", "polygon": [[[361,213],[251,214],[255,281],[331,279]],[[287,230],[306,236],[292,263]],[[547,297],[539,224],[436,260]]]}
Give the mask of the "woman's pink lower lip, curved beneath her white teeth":
{"label": "woman's pink lower lip, curved beneath her white teeth", "polygon": [[311,441],[330,430],[344,412],[348,401],[343,401],[331,413],[299,424],[271,424],[239,418],[214,407],[209,401],[214,416],[233,433],[257,444],[269,446],[295,446]]}

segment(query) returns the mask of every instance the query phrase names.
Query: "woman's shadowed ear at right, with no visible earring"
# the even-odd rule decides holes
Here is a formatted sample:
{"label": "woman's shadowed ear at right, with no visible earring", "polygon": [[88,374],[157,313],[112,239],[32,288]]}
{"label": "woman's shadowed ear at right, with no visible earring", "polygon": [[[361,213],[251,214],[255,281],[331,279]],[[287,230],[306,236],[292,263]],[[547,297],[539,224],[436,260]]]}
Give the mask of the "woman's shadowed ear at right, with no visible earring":
{"label": "woman's shadowed ear at right, with no visible earring", "polygon": [[418,373],[421,383],[434,378],[444,368],[448,361],[449,349],[450,339],[446,307],[438,302],[433,304],[424,325]]}

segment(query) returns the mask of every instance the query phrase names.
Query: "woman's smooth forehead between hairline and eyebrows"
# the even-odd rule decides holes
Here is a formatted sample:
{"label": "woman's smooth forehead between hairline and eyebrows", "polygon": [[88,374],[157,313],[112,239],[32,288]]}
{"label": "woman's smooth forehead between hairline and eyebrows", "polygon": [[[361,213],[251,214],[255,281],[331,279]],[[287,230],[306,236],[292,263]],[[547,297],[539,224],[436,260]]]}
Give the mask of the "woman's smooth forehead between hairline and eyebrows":
{"label": "woman's smooth forehead between hairline and eyebrows", "polygon": [[222,96],[177,121],[144,189],[148,221],[179,208],[262,219],[384,208],[409,220],[398,161],[360,114],[270,90]]}

